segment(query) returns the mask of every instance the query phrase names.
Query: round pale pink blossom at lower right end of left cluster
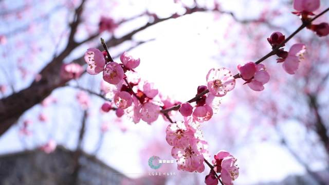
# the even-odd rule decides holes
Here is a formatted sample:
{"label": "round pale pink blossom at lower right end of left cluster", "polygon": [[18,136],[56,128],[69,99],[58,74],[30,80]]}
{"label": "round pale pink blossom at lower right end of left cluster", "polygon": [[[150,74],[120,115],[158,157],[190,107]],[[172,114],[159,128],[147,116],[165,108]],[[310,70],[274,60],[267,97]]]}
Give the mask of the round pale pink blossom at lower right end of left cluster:
{"label": "round pale pink blossom at lower right end of left cluster", "polygon": [[151,124],[152,122],[156,121],[159,117],[159,114],[160,106],[152,102],[147,102],[143,104],[140,109],[140,118],[148,124]]}

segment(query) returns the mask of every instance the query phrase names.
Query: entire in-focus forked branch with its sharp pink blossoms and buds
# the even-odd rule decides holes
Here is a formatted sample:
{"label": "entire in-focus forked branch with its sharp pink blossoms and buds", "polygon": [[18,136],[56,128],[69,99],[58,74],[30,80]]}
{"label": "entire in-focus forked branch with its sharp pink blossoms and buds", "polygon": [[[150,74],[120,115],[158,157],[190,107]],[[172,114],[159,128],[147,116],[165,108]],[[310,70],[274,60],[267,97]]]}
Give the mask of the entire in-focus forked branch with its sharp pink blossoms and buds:
{"label": "entire in-focus forked branch with its sharp pink blossoms and buds", "polygon": [[[313,14],[312,12],[319,7],[320,1],[310,3],[295,0],[294,8],[297,12],[294,14],[299,15],[302,20],[302,25],[295,32],[287,38],[280,32],[272,33],[267,39],[272,50],[256,62],[238,65],[239,73],[234,76],[224,67],[210,69],[206,76],[207,86],[198,86],[196,96],[185,103],[172,102],[158,95],[158,90],[147,81],[141,85],[141,79],[136,78],[135,71],[140,59],[134,59],[124,52],[120,56],[121,63],[114,62],[102,39],[104,51],[89,48],[84,55],[85,62],[88,64],[87,72],[90,75],[103,72],[103,80],[107,83],[101,88],[107,89],[106,93],[112,94],[117,111],[124,110],[133,122],[138,123],[143,120],[151,124],[160,114],[170,122],[166,129],[166,140],[173,146],[171,154],[176,159],[178,170],[201,173],[205,170],[205,162],[210,168],[209,174],[205,177],[206,184],[218,184],[218,181],[221,184],[232,184],[232,181],[239,176],[239,168],[235,164],[236,158],[227,151],[220,151],[214,155],[211,164],[207,160],[208,143],[200,130],[200,124],[212,118],[213,108],[220,104],[219,98],[234,89],[236,79],[244,80],[244,84],[252,90],[264,90],[264,85],[268,83],[270,76],[265,65],[261,63],[272,55],[277,55],[277,62],[282,63],[283,69],[288,74],[295,74],[306,47],[301,43],[294,44],[289,51],[285,51],[283,47],[304,28],[316,32],[319,36],[329,34],[327,23],[312,24],[319,16],[329,11],[327,8],[318,15]],[[178,110],[184,121],[173,121],[170,118],[173,110]]]}

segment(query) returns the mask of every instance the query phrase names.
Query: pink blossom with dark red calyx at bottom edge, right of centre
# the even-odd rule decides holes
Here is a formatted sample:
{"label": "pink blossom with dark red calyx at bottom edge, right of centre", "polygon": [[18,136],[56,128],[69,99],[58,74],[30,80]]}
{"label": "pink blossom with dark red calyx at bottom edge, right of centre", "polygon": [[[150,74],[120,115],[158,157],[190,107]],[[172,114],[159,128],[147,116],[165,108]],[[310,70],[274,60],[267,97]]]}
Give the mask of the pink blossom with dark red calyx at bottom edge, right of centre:
{"label": "pink blossom with dark red calyx at bottom edge, right of centre", "polygon": [[232,181],[239,177],[239,168],[235,164],[236,158],[227,151],[220,151],[214,156],[214,171],[221,173],[225,185],[233,184]]}

